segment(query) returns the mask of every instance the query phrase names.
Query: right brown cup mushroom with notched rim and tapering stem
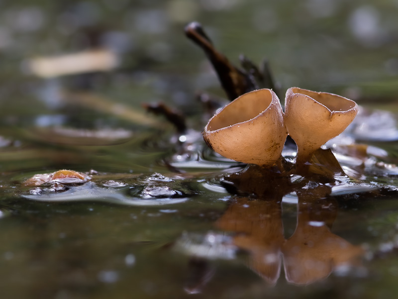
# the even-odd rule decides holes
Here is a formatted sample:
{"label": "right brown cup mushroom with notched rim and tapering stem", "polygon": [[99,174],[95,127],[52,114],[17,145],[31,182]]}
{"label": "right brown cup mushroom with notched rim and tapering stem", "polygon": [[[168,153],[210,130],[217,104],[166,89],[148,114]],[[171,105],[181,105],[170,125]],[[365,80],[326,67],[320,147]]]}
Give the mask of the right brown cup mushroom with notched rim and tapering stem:
{"label": "right brown cup mushroom with notched rim and tapering stem", "polygon": [[354,120],[358,105],[347,98],[298,87],[286,92],[285,125],[297,144],[298,167]]}

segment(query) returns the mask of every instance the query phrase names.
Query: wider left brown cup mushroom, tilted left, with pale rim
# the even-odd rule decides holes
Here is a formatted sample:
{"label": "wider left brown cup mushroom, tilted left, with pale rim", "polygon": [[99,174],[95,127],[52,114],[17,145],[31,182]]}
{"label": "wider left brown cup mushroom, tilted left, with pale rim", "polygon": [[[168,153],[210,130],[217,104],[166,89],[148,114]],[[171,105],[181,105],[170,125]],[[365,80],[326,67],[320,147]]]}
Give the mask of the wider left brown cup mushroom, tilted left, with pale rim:
{"label": "wider left brown cup mushroom, tilted left, with pale rim", "polygon": [[280,160],[286,137],[281,103],[270,89],[238,97],[203,132],[206,144],[224,157],[266,167]]}

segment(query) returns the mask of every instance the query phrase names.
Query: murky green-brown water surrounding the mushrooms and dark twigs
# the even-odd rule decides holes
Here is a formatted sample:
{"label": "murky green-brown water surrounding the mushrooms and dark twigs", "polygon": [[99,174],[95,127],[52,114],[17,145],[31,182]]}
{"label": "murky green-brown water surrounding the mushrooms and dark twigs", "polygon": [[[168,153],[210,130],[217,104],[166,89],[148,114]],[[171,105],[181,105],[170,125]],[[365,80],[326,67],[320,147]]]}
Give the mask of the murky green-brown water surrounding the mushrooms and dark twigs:
{"label": "murky green-brown water surrounding the mushrooms and dark twigs", "polygon": [[[396,1],[1,5],[3,298],[394,298]],[[233,63],[267,57],[282,94],[356,100],[327,144],[347,175],[287,183],[208,149],[197,95],[227,101],[184,36],[192,20]],[[37,60],[93,49],[105,56],[90,71],[76,56],[50,71]],[[184,132],[141,106],[160,101]],[[26,182],[60,169],[82,181]]]}

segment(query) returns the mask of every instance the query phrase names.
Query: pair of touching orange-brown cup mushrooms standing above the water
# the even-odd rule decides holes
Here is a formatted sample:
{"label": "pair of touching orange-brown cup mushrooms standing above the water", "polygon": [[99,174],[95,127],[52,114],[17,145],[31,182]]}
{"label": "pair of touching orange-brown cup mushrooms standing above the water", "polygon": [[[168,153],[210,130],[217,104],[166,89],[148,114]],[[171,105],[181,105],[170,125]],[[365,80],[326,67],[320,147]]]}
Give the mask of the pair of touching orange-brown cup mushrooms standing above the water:
{"label": "pair of touching orange-brown cup mushrooms standing above the water", "polygon": [[288,134],[296,142],[296,167],[308,164],[315,150],[338,136],[354,120],[358,105],[339,95],[292,87],[285,113],[271,89],[236,98],[207,123],[206,144],[217,153],[264,168],[281,165]]}

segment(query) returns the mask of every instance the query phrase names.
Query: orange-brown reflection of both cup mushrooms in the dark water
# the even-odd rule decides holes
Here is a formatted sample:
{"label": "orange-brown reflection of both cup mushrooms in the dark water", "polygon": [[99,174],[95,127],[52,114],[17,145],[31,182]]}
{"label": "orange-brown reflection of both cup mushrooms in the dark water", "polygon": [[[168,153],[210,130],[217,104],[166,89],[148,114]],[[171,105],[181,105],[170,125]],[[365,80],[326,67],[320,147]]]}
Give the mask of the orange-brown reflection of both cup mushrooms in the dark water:
{"label": "orange-brown reflection of both cup mushrooms in the dark water", "polygon": [[285,240],[280,199],[238,198],[216,227],[235,232],[233,243],[249,253],[248,266],[265,281],[275,284],[283,257],[288,282],[307,285],[326,278],[340,266],[356,266],[363,250],[333,234],[337,207],[319,185],[298,192],[298,222]]}

